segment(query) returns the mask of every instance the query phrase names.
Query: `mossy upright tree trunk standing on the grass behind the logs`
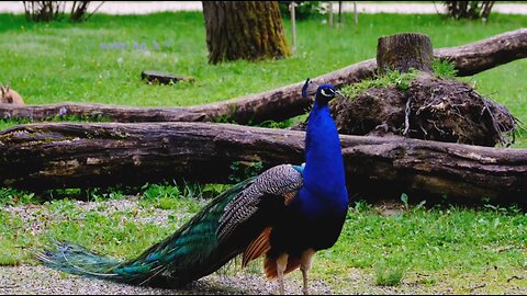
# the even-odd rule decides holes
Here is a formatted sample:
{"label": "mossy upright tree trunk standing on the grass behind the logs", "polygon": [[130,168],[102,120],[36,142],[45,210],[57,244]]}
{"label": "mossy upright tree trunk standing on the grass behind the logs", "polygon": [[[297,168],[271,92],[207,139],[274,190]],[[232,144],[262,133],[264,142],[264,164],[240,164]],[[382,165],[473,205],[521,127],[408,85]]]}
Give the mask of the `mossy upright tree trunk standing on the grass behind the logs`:
{"label": "mossy upright tree trunk standing on the grass behind the logs", "polygon": [[276,1],[202,1],[209,62],[290,55]]}

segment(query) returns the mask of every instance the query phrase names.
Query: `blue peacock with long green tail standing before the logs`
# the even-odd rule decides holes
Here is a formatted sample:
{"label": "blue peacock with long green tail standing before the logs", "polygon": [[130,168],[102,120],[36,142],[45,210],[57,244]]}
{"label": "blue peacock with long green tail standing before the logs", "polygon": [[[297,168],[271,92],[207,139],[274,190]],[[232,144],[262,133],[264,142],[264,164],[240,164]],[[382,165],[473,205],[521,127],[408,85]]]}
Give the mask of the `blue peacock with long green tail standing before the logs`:
{"label": "blue peacock with long green tail standing before the logs", "polygon": [[[303,88],[305,95],[307,79]],[[304,294],[316,251],[337,241],[348,209],[344,161],[328,102],[338,92],[317,87],[307,119],[305,163],[280,164],[224,193],[136,259],[117,262],[83,247],[56,242],[37,254],[45,265],[133,285],[175,288],[211,274],[242,254],[242,265],[265,257],[269,280],[300,267]]]}

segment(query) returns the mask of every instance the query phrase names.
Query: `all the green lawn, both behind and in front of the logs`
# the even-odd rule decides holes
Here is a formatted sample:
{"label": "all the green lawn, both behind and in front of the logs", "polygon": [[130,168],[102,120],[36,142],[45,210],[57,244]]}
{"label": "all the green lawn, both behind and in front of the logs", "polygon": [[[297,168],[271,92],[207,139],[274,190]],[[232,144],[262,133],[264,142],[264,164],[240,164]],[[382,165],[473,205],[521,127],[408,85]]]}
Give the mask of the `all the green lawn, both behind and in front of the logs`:
{"label": "all the green lawn, both behind and in front of the logs", "polygon": [[[299,22],[298,52],[287,59],[210,66],[201,13],[94,15],[82,24],[29,24],[23,15],[0,14],[0,80],[11,81],[29,104],[194,105],[274,89],[372,58],[382,35],[419,32],[429,35],[436,48],[451,47],[526,27],[527,18],[494,14],[481,23],[438,15],[361,14],[355,27],[352,15],[346,14],[345,23],[337,30],[321,20]],[[290,27],[285,21],[288,36]],[[141,81],[145,69],[193,76],[197,82],[148,86]],[[462,80],[527,123],[526,77],[524,59]],[[0,128],[13,124],[0,122]],[[527,148],[526,133],[514,148]],[[32,253],[51,238],[133,258],[223,189],[193,186],[199,187],[154,184],[133,196],[119,190],[91,192],[89,200],[100,205],[89,203],[90,207],[71,200],[75,194],[69,192],[63,196],[70,198],[57,200],[1,189],[0,265],[34,263]],[[200,195],[204,197],[194,198]],[[112,204],[120,201],[128,206]],[[343,236],[317,255],[313,276],[338,293],[381,293],[378,287],[390,286],[395,288],[392,293],[464,294],[474,293],[480,283],[486,284],[475,293],[527,293],[523,210],[492,205],[392,207],[396,210],[389,213],[382,206],[354,203]],[[247,272],[260,273],[260,267],[251,265]]]}

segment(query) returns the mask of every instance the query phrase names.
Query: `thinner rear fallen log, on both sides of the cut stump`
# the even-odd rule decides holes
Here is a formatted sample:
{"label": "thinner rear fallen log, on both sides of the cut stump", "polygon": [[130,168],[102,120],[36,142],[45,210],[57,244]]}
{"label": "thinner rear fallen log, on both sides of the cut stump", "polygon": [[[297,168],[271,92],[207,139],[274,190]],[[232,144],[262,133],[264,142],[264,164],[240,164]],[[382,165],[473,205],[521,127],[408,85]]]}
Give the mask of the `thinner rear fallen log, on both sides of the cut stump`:
{"label": "thinner rear fallen log, on both sides of the cut stump", "polygon": [[[453,62],[458,76],[470,76],[527,57],[527,29],[520,29],[463,46],[439,48],[434,56]],[[374,58],[312,79],[341,87],[369,79],[377,72]],[[61,116],[101,117],[113,122],[214,122],[259,124],[283,121],[305,113],[310,99],[302,99],[303,81],[244,98],[189,107],[131,107],[104,104],[58,103],[15,106],[0,104],[1,118],[44,121]]]}

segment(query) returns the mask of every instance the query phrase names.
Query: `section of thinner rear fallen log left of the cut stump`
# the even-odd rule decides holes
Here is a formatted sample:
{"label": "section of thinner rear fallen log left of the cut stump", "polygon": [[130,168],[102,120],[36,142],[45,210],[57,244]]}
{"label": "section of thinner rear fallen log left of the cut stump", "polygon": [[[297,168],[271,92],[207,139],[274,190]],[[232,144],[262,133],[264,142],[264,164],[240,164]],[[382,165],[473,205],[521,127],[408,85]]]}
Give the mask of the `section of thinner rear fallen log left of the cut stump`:
{"label": "section of thinner rear fallen log left of the cut stump", "polygon": [[[373,77],[374,59],[351,65],[338,71],[321,76],[313,81],[327,81],[334,86],[357,82]],[[138,122],[217,122],[259,124],[266,121],[284,121],[303,113],[312,101],[302,98],[304,81],[277,90],[251,94],[244,98],[220,101],[187,107],[133,107],[92,103],[57,103],[47,105],[24,105],[0,103],[0,118],[29,118],[46,121],[65,116],[85,119],[109,119],[121,123]],[[314,93],[310,93],[312,96]]]}

